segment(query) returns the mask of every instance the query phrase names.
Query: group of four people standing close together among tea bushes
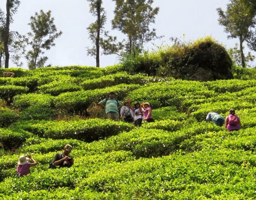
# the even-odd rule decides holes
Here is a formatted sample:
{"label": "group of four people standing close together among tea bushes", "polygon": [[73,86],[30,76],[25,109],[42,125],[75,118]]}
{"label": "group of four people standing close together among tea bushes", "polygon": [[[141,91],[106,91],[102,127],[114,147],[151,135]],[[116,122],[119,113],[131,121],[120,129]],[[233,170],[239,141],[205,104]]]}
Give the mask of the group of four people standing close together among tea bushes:
{"label": "group of four people standing close together among tea bushes", "polygon": [[[129,99],[123,102],[123,105],[115,99],[115,93],[110,92],[109,97],[100,101],[98,105],[103,107],[106,112],[106,118],[118,121],[124,120],[128,123],[133,123],[137,126],[141,126],[142,122],[145,123],[154,122],[152,117],[152,108],[149,102],[135,103],[134,107],[131,106]],[[120,114],[118,109],[120,109]]]}

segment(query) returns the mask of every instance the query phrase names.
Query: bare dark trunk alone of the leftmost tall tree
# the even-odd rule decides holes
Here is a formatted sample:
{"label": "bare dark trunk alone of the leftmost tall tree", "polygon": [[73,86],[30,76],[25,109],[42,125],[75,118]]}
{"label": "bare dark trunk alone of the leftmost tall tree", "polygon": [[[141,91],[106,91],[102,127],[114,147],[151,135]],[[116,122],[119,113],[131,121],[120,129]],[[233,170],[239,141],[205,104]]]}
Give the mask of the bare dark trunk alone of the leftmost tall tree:
{"label": "bare dark trunk alone of the leftmost tall tree", "polygon": [[3,41],[3,47],[4,47],[4,53],[5,53],[5,68],[9,68],[9,49],[8,49],[8,43],[9,43],[9,27],[10,27],[10,0],[6,1],[6,27],[4,32],[4,41]]}

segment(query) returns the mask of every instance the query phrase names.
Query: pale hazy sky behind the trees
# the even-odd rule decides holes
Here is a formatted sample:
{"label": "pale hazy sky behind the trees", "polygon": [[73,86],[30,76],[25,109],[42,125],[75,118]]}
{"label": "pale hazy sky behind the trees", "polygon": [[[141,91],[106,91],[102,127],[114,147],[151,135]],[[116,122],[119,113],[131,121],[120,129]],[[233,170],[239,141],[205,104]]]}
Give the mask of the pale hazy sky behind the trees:
{"label": "pale hazy sky behind the trees", "polygon": [[[177,37],[184,42],[195,41],[205,36],[212,36],[227,49],[234,47],[238,39],[227,39],[228,34],[224,27],[218,24],[218,13],[216,8],[226,10],[229,0],[154,0],[152,7],[159,7],[155,24],[157,36],[164,36],[161,39],[147,43],[144,48],[153,51],[162,44],[173,44],[170,37]],[[115,4],[112,0],[103,0],[102,7],[107,12],[107,22],[104,25],[105,31],[110,35],[117,36],[121,41],[125,36],[116,30],[111,29],[111,20],[114,17]],[[0,1],[0,8],[6,13],[6,0]],[[52,66],[96,66],[96,59],[87,56],[86,47],[92,47],[88,39],[87,27],[95,22],[96,18],[89,12],[87,0],[21,0],[21,4],[14,15],[14,23],[10,24],[11,31],[18,31],[24,35],[31,31],[28,23],[35,12],[48,12],[54,17],[54,24],[62,35],[55,39],[55,46],[45,51],[48,60],[45,65]],[[26,59],[23,58],[27,68]],[[100,67],[118,64],[116,55],[100,55]],[[9,67],[16,67],[9,61]]]}

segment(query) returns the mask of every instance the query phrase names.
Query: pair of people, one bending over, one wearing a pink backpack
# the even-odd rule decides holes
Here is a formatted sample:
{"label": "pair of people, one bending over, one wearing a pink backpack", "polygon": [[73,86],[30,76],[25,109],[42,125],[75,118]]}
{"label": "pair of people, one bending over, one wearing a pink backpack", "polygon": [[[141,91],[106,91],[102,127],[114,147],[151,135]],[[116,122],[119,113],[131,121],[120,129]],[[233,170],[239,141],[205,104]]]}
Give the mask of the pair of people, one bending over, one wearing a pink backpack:
{"label": "pair of people, one bending over, one wearing a pink backpack", "polygon": [[224,127],[227,128],[227,131],[238,131],[241,128],[241,121],[240,118],[235,115],[235,109],[229,110],[229,115],[225,120],[220,114],[216,112],[209,112],[206,116],[206,121],[211,121],[218,126],[222,126],[225,122]]}

